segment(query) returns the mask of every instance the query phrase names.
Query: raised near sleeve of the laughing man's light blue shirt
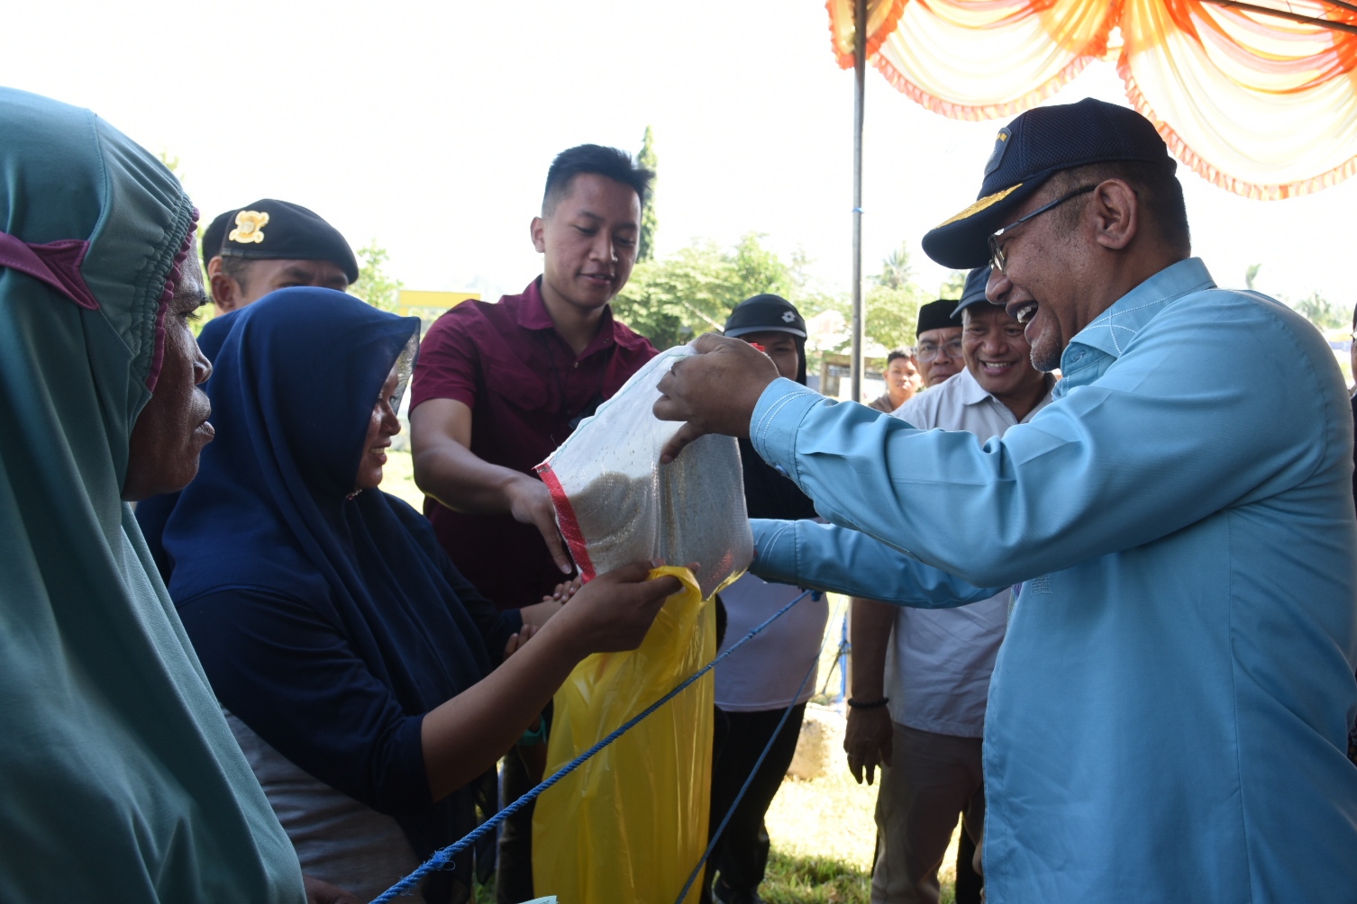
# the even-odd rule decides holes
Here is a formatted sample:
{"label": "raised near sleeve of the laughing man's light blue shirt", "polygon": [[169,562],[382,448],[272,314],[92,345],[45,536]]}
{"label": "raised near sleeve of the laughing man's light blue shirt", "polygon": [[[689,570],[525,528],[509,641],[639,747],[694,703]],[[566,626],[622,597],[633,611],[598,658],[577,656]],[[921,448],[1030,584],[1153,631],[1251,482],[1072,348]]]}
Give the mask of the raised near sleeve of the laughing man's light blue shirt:
{"label": "raised near sleeve of the laughing man's light blue shirt", "polygon": [[[764,390],[750,439],[829,522],[977,585],[1061,571],[1269,497],[1348,442],[1342,412],[1326,404],[1342,394],[1333,356],[1276,302],[1198,293],[1121,343],[1101,375],[1073,386],[1067,369],[1064,397],[984,446],[790,379]],[[1270,366],[1278,350],[1303,367]],[[1312,442],[1316,424],[1326,443]]]}

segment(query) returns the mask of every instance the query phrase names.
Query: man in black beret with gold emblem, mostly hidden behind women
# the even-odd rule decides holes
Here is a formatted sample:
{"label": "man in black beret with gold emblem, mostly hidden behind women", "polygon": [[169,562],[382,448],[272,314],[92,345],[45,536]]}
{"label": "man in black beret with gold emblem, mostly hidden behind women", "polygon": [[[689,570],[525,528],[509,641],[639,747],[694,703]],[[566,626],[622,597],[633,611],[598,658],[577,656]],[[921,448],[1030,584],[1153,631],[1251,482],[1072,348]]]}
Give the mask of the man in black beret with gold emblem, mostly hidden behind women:
{"label": "man in black beret with gold emblem, mostly hidden behind women", "polygon": [[217,314],[275,289],[345,291],[358,279],[358,262],[338,229],[301,205],[271,198],[213,220],[202,233],[202,263]]}

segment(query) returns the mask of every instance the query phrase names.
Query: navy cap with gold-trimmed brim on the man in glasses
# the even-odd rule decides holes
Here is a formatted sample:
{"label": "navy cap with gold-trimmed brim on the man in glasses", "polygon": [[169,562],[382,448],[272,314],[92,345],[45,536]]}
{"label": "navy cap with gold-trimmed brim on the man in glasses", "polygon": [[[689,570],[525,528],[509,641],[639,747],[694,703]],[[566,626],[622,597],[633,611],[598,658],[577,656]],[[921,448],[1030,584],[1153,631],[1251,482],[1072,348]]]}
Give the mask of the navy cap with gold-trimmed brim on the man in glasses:
{"label": "navy cap with gold-trimmed brim on the man in glasses", "polygon": [[1134,110],[1092,98],[1035,107],[999,130],[976,203],[931,229],[924,253],[943,267],[989,263],[989,236],[1061,169],[1111,160],[1177,165],[1153,123]]}

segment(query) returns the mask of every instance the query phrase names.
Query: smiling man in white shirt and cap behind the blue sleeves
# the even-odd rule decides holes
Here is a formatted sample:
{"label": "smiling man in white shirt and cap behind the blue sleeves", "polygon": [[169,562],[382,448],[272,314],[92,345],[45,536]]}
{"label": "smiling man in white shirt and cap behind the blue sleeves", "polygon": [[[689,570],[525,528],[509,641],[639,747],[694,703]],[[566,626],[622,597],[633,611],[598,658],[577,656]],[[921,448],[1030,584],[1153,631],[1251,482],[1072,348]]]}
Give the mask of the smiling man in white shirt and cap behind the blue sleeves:
{"label": "smiling man in white shirt and cap behind the blue sleeves", "polygon": [[[984,442],[1050,401],[1054,379],[1031,366],[1022,324],[987,302],[988,278],[989,267],[973,270],[957,309],[965,369],[906,401],[896,417]],[[978,840],[985,699],[1007,610],[1008,591],[959,609],[854,600],[844,749],[858,781],[866,771],[870,783],[882,767],[873,904],[936,904],[938,867],[958,815],[969,835],[963,842]],[[958,855],[958,904],[978,900],[978,880],[968,869],[973,850],[963,843]]]}

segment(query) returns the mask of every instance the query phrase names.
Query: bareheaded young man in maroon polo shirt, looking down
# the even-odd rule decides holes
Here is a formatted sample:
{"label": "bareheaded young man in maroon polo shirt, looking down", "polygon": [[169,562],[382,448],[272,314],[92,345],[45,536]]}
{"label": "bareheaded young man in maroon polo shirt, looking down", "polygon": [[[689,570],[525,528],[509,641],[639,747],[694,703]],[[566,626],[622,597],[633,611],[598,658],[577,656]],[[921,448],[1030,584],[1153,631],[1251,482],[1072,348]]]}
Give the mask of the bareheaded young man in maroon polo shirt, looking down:
{"label": "bareheaded young man in maroon polo shirt, looking down", "polygon": [[[651,178],[613,148],[562,152],[532,221],[541,276],[499,304],[457,305],[421,346],[415,482],[448,556],[501,609],[540,602],[574,571],[533,466],[655,355],[608,305],[631,275]],[[521,770],[505,758],[506,804],[532,786]],[[525,808],[501,835],[499,901],[533,897],[531,839]]]}

